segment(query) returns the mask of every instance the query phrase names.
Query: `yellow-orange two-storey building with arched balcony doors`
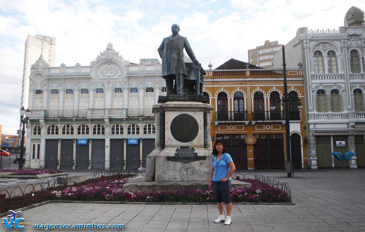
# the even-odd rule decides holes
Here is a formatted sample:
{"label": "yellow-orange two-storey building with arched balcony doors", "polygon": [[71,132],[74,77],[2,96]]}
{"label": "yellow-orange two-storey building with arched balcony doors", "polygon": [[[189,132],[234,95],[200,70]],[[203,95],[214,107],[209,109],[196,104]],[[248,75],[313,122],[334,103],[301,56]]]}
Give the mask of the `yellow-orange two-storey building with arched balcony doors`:
{"label": "yellow-orange two-storey building with arched balcony doors", "polygon": [[[280,101],[284,97],[283,70],[260,69],[230,59],[206,72],[203,94],[214,105],[212,143],[223,140],[237,169],[284,169],[285,112]],[[294,169],[303,169],[308,167],[303,70],[287,70],[287,83],[291,160]]]}

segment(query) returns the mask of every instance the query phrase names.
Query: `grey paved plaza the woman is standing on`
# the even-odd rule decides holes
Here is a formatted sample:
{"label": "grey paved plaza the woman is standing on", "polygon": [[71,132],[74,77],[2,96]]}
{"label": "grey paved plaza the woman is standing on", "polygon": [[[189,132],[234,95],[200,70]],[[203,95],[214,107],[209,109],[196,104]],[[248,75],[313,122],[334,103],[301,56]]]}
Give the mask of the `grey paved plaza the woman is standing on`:
{"label": "grey paved plaza the woman is standing on", "polygon": [[[231,225],[213,222],[216,205],[50,203],[23,210],[21,217],[32,224],[125,224],[125,229],[74,230],[85,232],[365,231],[365,169],[299,170],[295,178],[287,178],[285,170],[253,172],[289,183],[296,205],[233,205]],[[24,231],[35,230],[26,225]]]}

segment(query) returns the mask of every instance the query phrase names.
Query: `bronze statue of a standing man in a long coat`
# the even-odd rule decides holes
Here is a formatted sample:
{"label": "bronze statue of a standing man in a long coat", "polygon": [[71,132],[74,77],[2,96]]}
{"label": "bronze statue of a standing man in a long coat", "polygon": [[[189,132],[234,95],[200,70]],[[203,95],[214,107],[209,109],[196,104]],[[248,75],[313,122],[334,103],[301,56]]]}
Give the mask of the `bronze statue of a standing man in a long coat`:
{"label": "bronze statue of a standing man in a long coat", "polygon": [[[160,47],[157,49],[162,58],[162,77],[166,81],[167,94],[186,94],[184,93],[184,76],[187,71],[184,62],[184,47],[190,59],[197,65],[193,50],[188,39],[179,35],[180,27],[177,24],[171,26],[172,35],[164,38]],[[174,80],[176,89],[174,89]]]}

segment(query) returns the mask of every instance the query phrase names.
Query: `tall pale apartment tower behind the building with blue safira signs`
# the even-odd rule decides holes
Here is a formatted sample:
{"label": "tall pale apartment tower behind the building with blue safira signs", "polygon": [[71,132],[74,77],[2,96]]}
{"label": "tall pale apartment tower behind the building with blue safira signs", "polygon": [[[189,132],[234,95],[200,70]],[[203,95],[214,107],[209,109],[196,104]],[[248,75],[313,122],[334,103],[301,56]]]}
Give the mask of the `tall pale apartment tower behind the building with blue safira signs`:
{"label": "tall pale apartment tower behind the building with blue safira signs", "polygon": [[42,55],[44,60],[53,67],[55,48],[56,38],[54,37],[45,35],[27,36],[24,50],[22,100],[20,102],[20,107],[24,106],[24,109],[28,108],[31,65],[38,60],[39,56]]}

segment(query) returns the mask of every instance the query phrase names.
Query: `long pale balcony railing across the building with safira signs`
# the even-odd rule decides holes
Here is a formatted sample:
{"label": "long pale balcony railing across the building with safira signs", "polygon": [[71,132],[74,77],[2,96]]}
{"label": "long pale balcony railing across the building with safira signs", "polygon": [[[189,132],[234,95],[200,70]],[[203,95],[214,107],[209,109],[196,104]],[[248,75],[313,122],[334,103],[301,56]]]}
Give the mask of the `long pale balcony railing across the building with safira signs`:
{"label": "long pale balcony railing across the building with safira signs", "polygon": [[154,116],[152,108],[146,109],[36,109],[31,110],[30,118],[75,118],[75,117],[85,117],[85,118],[96,118],[96,117],[151,117]]}

